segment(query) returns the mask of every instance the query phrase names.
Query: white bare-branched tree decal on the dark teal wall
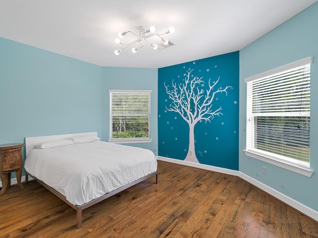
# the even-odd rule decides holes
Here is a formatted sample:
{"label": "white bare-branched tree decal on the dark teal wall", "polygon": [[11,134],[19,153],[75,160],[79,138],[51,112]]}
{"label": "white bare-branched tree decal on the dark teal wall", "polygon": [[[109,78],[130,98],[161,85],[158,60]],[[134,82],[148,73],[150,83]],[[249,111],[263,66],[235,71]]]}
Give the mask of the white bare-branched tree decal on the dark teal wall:
{"label": "white bare-branched tree decal on the dark teal wall", "polygon": [[220,87],[214,90],[220,80],[219,76],[218,80],[212,84],[211,79],[209,79],[209,88],[203,89],[205,83],[202,80],[203,77],[194,76],[192,79],[190,78],[193,70],[186,71],[184,82],[179,85],[174,80],[172,80],[171,86],[166,85],[165,82],[163,84],[171,100],[171,104],[169,104],[169,107],[166,106],[166,110],[178,113],[189,125],[189,147],[185,161],[199,163],[195,155],[194,126],[198,121],[211,122],[214,116],[223,115],[220,112],[222,107],[213,109],[212,102],[216,94],[226,93],[228,95],[227,90],[233,87],[226,86],[224,89]]}

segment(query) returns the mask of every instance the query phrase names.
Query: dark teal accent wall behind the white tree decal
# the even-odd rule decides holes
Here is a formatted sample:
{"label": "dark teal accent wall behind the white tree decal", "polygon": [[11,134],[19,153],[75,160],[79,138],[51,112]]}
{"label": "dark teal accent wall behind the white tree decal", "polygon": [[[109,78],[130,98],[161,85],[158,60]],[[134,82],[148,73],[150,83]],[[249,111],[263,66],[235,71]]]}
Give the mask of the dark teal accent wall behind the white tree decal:
{"label": "dark teal accent wall behind the white tree decal", "polygon": [[[189,73],[189,82],[186,84]],[[219,81],[218,81],[219,79]],[[191,94],[191,82],[200,80],[189,99],[189,110],[182,110]],[[209,83],[210,81],[210,83]],[[210,84],[210,85],[209,85]],[[175,88],[174,88],[175,85]],[[210,86],[214,86],[212,89]],[[230,86],[226,91],[227,86]],[[186,88],[183,88],[186,87]],[[181,92],[182,88],[187,92]],[[205,100],[211,89],[208,100]],[[199,90],[199,91],[198,91]],[[201,91],[202,90],[202,91]],[[220,90],[220,92],[217,92]],[[200,92],[200,93],[199,93]],[[213,92],[217,92],[213,96]],[[169,93],[174,93],[169,94]],[[177,96],[176,96],[177,95]],[[195,97],[201,95],[195,106]],[[177,106],[176,98],[185,100]],[[180,98],[181,97],[181,98]],[[174,101],[173,101],[174,100]],[[210,102],[212,101],[212,102]],[[191,150],[190,119],[199,107],[208,104],[194,125],[194,147]],[[178,107],[178,113],[171,110]],[[183,115],[182,115],[183,114]],[[209,119],[204,119],[209,117]],[[195,118],[195,116],[194,116]],[[239,169],[239,52],[185,62],[158,70],[158,148],[159,156],[179,160],[196,157],[200,164]],[[191,150],[189,156],[188,152]],[[193,160],[189,160],[192,161]]]}

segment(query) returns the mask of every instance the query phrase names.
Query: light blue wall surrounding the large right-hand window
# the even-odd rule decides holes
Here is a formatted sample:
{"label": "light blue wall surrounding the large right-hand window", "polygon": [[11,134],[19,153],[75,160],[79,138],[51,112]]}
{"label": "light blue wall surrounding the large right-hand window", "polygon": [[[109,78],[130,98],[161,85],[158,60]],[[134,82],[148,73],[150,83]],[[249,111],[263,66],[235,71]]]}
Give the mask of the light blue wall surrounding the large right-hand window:
{"label": "light blue wall surrounding the large right-hand window", "polygon": [[[318,211],[318,2],[240,51],[239,171]],[[246,84],[244,78],[314,57],[311,67],[312,178],[245,156]],[[262,167],[267,167],[267,175]],[[258,177],[256,176],[258,174]]]}

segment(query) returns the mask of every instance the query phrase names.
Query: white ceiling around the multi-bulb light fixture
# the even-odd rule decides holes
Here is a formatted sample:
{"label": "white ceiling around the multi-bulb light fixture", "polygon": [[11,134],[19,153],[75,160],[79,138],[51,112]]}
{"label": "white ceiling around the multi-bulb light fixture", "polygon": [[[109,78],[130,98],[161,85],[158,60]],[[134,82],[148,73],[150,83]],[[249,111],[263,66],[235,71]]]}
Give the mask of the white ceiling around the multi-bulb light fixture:
{"label": "white ceiling around the multi-bulb light fixture", "polygon": [[[0,0],[0,37],[100,66],[160,68],[239,51],[316,1]],[[152,25],[173,26],[164,37],[175,45],[114,54],[119,32]]]}

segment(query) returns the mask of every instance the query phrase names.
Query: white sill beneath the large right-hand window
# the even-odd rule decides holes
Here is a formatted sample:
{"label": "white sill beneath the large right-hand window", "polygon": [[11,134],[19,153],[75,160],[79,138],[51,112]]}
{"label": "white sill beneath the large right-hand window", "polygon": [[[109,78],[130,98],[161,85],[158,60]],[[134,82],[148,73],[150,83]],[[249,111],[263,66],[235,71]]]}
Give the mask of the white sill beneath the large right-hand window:
{"label": "white sill beneath the large right-hand window", "polygon": [[266,163],[271,164],[271,165],[275,165],[277,167],[280,167],[280,168],[283,168],[285,170],[289,170],[289,171],[295,172],[297,174],[306,176],[308,178],[311,178],[313,173],[314,173],[314,170],[311,170],[311,169],[308,169],[308,168],[304,168],[304,167],[300,167],[300,166],[293,165],[293,164],[289,164],[287,162],[283,162],[283,161],[280,161],[280,160],[276,160],[274,158],[270,158],[270,157],[268,157],[266,155],[263,155],[263,154],[260,154],[260,153],[254,152],[254,151],[250,151],[250,150],[243,150],[243,151],[245,152],[245,155],[248,156],[248,157],[251,157],[251,158],[266,162]]}

